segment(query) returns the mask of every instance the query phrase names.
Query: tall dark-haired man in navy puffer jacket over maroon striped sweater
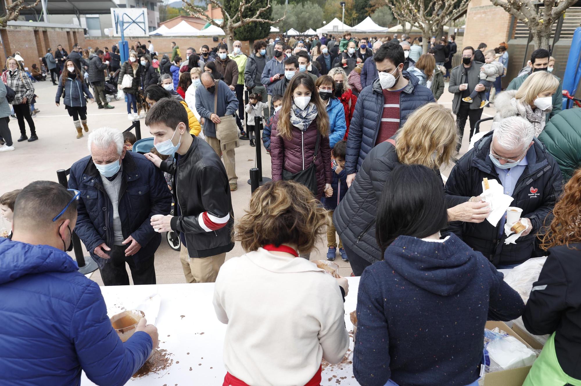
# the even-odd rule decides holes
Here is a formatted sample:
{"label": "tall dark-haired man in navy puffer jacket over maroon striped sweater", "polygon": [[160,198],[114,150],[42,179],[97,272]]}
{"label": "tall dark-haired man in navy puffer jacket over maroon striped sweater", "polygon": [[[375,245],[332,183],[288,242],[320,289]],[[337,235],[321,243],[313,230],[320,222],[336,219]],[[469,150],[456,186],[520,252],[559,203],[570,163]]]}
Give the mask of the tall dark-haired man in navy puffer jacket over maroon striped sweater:
{"label": "tall dark-haired man in navy puffer jacket over maroon striped sweater", "polygon": [[376,144],[392,137],[415,109],[435,101],[430,89],[419,85],[418,78],[403,70],[406,57],[399,44],[384,43],[375,53],[374,61],[379,78],[357,97],[349,127],[345,159],[348,185]]}

